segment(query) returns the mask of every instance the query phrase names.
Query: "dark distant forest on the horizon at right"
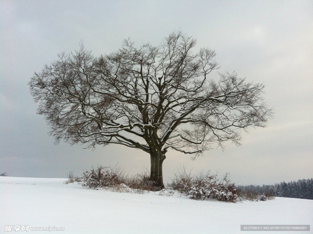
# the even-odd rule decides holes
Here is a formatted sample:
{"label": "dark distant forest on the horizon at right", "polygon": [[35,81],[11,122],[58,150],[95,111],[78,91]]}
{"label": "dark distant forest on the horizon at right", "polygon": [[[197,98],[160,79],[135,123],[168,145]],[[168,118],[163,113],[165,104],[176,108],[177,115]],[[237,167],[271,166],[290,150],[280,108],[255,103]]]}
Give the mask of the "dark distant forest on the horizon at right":
{"label": "dark distant forest on the horizon at right", "polygon": [[237,189],[242,191],[254,191],[275,197],[290,197],[313,200],[313,178],[299,179],[288,183],[281,182],[275,185],[239,185]]}

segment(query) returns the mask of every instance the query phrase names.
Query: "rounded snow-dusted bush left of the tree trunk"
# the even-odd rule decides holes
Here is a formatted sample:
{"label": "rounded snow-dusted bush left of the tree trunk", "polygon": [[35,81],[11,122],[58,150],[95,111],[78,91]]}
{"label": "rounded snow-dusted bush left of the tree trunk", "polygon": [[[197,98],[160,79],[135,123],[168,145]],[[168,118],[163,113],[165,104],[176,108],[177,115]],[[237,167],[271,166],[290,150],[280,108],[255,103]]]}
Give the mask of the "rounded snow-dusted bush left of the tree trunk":
{"label": "rounded snow-dusted bush left of the tree trunk", "polygon": [[89,186],[89,188],[110,187],[116,184],[118,184],[117,176],[111,168],[101,165],[97,169],[92,168],[84,172],[81,177],[81,185]]}

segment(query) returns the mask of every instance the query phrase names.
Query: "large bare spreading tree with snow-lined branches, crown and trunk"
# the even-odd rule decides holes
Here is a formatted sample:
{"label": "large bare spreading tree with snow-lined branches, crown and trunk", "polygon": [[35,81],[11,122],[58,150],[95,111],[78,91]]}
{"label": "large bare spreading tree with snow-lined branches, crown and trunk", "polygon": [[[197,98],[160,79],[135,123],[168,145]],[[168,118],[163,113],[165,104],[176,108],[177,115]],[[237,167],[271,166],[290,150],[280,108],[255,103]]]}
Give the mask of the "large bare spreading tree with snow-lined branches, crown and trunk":
{"label": "large bare spreading tree with snow-lined branches, crown and trunk", "polygon": [[117,52],[96,58],[81,44],[31,78],[38,114],[46,117],[56,143],[114,143],[149,153],[151,180],[162,187],[169,148],[195,158],[212,144],[238,145],[240,128],[265,127],[272,116],[262,84],[236,73],[208,80],[218,68],[215,51],[194,54],[195,44],[175,31],[159,46],[136,48],[127,39]]}

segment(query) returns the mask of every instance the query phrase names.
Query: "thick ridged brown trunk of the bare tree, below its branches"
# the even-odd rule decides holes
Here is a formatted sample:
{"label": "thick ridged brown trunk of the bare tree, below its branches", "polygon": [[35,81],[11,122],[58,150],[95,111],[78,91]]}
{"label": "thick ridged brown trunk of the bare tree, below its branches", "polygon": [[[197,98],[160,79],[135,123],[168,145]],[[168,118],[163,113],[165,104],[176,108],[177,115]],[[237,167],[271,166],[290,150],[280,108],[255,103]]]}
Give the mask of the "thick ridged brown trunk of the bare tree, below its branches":
{"label": "thick ridged brown trunk of the bare tree, below its branches", "polygon": [[154,185],[157,188],[164,188],[162,163],[165,158],[166,158],[165,154],[161,154],[161,153],[150,154],[150,159],[151,159],[150,179],[151,181],[154,182]]}

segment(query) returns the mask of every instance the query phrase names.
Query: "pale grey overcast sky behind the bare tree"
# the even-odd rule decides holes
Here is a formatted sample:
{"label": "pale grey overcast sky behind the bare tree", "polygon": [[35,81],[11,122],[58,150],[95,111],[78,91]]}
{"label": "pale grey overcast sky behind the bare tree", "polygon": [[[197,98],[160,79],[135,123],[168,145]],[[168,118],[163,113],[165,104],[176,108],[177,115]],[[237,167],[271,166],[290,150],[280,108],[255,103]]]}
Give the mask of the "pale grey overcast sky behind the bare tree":
{"label": "pale grey overcast sky behind the bare tree", "polygon": [[[150,155],[123,146],[94,151],[54,145],[27,82],[57,53],[85,48],[110,53],[131,37],[158,45],[173,30],[216,50],[219,72],[264,82],[275,118],[191,161],[169,151],[166,184],[185,165],[197,173],[230,173],[239,184],[272,184],[313,177],[313,1],[3,1],[0,0],[0,173],[20,177],[81,175],[119,163],[130,173],[150,169]],[[210,73],[218,79],[217,73]]]}

